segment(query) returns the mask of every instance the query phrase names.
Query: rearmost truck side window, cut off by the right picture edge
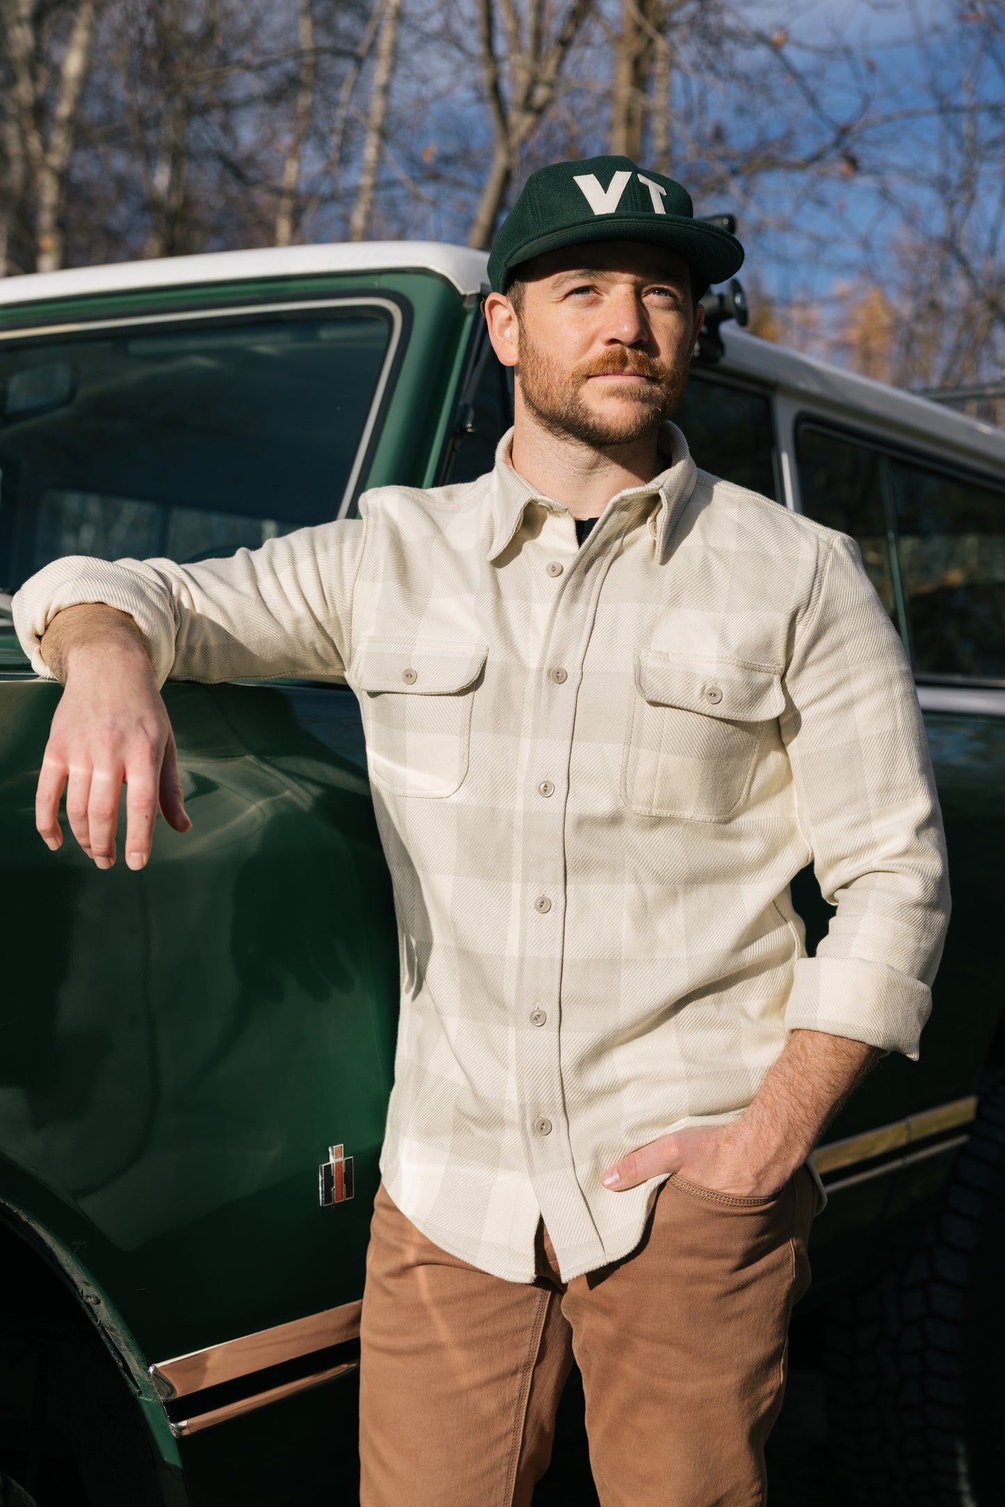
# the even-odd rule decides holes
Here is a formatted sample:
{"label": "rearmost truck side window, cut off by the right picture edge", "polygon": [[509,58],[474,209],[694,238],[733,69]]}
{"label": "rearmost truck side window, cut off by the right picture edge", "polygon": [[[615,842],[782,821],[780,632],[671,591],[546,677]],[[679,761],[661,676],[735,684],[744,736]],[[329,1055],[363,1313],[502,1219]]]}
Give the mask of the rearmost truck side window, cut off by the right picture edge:
{"label": "rearmost truck side window, cut off by the right picture edge", "polygon": [[1005,488],[884,457],[915,671],[1005,680]]}

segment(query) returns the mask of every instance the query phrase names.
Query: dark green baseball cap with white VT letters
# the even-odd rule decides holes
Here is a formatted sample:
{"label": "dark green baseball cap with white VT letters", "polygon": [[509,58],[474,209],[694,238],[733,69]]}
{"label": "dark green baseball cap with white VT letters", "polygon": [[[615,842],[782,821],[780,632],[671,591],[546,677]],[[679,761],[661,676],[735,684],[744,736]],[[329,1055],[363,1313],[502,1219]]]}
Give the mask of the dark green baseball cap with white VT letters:
{"label": "dark green baseball cap with white VT letters", "polygon": [[683,256],[707,288],[743,264],[735,235],[695,219],[686,188],[642,172],[630,157],[551,163],[530,173],[499,228],[488,258],[496,292],[506,291],[518,262],[588,241],[652,241]]}

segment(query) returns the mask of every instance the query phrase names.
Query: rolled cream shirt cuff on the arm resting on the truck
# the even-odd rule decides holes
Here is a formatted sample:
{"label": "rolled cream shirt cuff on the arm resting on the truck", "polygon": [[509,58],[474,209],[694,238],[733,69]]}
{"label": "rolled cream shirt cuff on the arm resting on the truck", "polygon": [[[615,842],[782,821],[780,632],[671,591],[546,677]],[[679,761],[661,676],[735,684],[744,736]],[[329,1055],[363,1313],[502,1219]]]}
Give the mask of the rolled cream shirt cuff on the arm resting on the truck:
{"label": "rolled cream shirt cuff on the arm resting on the truck", "polygon": [[42,634],[57,612],[84,603],[118,607],[133,618],[151,657],[157,684],[163,686],[175,663],[175,621],[166,612],[164,589],[125,564],[105,564],[74,555],[54,561],[33,576],[11,604],[14,627],[35,674],[44,680],[56,680],[39,650]]}

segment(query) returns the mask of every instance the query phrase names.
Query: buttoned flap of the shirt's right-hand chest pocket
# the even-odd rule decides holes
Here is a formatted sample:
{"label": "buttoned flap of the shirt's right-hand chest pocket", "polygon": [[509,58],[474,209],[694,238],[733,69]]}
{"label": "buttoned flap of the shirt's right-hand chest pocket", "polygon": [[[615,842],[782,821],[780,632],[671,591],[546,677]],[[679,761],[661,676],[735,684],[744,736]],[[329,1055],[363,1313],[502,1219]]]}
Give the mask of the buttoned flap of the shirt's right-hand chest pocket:
{"label": "buttoned flap of the shirt's right-hand chest pocket", "polygon": [[731,660],[674,659],[643,650],[636,684],[658,707],[701,711],[728,722],[770,722],[785,711],[779,671]]}

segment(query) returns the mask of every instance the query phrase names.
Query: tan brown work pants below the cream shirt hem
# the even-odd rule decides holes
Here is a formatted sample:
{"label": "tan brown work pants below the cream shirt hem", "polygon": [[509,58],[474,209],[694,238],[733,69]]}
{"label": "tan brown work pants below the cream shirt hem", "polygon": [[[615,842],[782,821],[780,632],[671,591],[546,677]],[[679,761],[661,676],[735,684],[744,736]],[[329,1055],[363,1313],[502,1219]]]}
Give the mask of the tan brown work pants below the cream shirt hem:
{"label": "tan brown work pants below the cream shirt hem", "polygon": [[[616,1197],[616,1195],[615,1195]],[[374,1206],[362,1320],[362,1507],[527,1507],[573,1356],[603,1507],[761,1507],[815,1191],[771,1200],[681,1177],[639,1246],[562,1282],[508,1282]]]}

